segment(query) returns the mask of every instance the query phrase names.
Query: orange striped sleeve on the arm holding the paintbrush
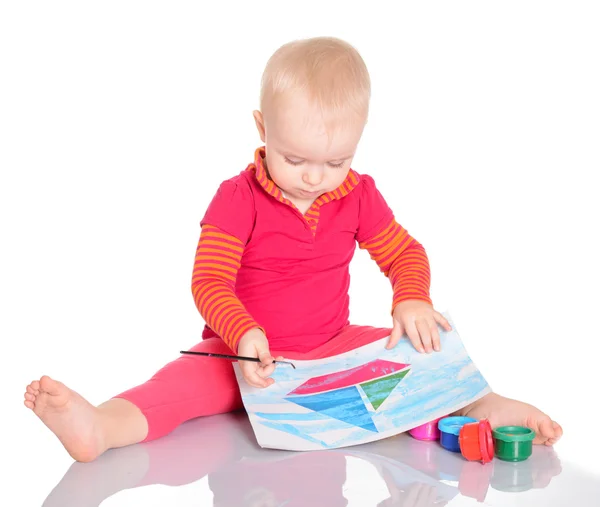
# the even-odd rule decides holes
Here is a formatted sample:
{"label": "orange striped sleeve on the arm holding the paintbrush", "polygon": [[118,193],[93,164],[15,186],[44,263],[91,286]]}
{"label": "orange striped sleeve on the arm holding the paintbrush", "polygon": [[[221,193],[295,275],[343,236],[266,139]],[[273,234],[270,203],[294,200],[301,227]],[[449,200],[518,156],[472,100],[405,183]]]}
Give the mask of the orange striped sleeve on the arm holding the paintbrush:
{"label": "orange striped sleeve on the arm holding the paintbrush", "polygon": [[192,273],[192,294],[200,315],[234,352],[244,333],[260,328],[235,294],[243,253],[239,239],[204,225]]}

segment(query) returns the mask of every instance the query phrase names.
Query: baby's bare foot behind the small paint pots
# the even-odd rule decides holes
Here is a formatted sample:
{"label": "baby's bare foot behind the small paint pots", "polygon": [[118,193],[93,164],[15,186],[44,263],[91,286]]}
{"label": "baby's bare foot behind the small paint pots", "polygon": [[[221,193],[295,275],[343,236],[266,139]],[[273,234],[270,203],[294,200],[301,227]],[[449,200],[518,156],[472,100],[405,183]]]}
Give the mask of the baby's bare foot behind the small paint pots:
{"label": "baby's bare foot behind the small paint pots", "polygon": [[535,431],[534,444],[553,445],[562,436],[562,427],[533,405],[490,393],[459,410],[458,415],[487,418],[492,428],[525,426]]}

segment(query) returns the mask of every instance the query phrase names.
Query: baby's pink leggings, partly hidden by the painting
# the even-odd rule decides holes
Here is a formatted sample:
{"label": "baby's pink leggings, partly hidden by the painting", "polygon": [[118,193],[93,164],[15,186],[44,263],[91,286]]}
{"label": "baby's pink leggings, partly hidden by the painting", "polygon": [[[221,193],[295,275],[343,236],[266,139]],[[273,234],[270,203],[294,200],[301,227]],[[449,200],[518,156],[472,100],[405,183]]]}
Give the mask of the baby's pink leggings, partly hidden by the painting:
{"label": "baby's pink leggings, partly hidden by the painting", "polygon": [[[289,359],[321,359],[342,354],[389,336],[390,329],[347,326],[330,341],[306,353],[271,351]],[[191,348],[194,351],[231,354],[220,338],[208,338]],[[144,384],[115,398],[130,401],[148,420],[144,442],[162,437],[181,423],[204,415],[222,414],[243,408],[242,398],[230,361],[182,355],[161,368]]]}

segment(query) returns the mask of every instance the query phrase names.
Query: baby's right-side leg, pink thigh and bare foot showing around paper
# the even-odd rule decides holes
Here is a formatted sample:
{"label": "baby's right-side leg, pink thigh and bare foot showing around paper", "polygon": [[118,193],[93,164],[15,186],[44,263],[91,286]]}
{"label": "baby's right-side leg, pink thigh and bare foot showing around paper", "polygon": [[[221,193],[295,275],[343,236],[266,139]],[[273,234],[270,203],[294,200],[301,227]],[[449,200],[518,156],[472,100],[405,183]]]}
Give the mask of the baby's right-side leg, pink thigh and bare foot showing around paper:
{"label": "baby's right-side leg, pink thigh and bare foot showing around paper", "polygon": [[[342,354],[390,335],[391,329],[369,326],[347,326],[329,342],[305,354],[282,354],[293,359],[320,359]],[[562,436],[560,424],[532,405],[490,393],[467,405],[453,415],[468,415],[476,419],[487,418],[491,425],[526,426],[536,432],[536,444],[552,445]]]}

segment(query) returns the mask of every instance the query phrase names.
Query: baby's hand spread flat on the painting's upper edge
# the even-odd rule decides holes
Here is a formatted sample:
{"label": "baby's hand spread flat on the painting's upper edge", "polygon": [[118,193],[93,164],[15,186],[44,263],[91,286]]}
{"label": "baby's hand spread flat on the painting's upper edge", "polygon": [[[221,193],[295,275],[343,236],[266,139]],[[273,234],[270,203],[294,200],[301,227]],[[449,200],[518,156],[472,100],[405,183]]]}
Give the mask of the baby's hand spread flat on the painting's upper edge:
{"label": "baby's hand spread flat on the painting's upper edge", "polygon": [[437,325],[440,324],[446,331],[451,331],[452,326],[444,316],[436,312],[433,307],[418,299],[402,301],[394,308],[392,314],[394,327],[390,335],[390,341],[386,348],[392,349],[396,346],[404,333],[408,335],[411,343],[419,352],[431,352],[440,350],[440,334]]}

